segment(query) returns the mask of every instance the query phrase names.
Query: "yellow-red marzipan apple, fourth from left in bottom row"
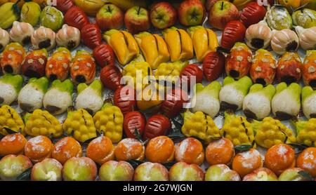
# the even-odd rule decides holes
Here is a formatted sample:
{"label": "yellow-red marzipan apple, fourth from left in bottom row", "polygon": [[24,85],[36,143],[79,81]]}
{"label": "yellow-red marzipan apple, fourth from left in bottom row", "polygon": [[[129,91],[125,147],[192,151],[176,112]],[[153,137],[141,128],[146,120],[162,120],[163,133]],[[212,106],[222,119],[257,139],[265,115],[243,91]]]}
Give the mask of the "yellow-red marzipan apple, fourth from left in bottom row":
{"label": "yellow-red marzipan apple, fourth from left in bottom row", "polygon": [[126,161],[107,161],[99,170],[101,181],[131,181],[134,169]]}

